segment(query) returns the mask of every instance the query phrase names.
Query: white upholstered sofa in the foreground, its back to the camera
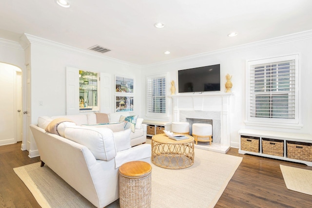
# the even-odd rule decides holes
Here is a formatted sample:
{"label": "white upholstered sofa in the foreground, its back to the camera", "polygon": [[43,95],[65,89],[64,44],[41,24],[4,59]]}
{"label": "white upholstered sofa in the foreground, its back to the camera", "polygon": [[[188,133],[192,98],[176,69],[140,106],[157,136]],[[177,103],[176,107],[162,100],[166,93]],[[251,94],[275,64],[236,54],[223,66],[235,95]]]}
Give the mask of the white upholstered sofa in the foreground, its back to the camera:
{"label": "white upholstered sofa in the foreground, its back to the camera", "polygon": [[[58,119],[64,119],[57,126],[59,135],[46,132],[45,129]],[[150,163],[151,146],[142,144],[146,141],[144,124],[135,132],[80,126],[94,124],[92,119],[92,114],[42,116],[38,125],[30,128],[38,146],[41,166],[46,164],[93,205],[103,208],[119,198],[119,167],[134,160]],[[131,133],[134,141],[130,142]]]}

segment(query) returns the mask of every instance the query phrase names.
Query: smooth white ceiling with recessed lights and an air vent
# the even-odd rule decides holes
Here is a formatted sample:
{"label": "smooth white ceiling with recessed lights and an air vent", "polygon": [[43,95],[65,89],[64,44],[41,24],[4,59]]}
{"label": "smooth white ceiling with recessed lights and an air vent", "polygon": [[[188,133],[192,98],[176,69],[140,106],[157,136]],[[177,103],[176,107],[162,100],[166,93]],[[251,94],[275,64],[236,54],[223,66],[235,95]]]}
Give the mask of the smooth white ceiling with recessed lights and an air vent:
{"label": "smooth white ceiling with recessed lights and an air vent", "polygon": [[100,45],[112,50],[102,56],[146,65],[312,29],[312,0],[69,2],[0,0],[0,38],[27,33],[85,50]]}

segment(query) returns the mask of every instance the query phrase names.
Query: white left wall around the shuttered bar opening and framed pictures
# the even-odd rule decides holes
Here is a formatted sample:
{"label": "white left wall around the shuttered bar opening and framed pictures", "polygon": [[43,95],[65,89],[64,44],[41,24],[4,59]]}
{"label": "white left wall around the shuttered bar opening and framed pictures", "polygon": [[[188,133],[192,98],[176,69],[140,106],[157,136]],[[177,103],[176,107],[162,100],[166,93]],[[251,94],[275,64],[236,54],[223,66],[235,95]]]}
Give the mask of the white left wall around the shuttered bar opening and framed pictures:
{"label": "white left wall around the shuttered bar opening and framed pictures", "polygon": [[[52,43],[51,43],[52,44]],[[54,45],[56,43],[53,43]],[[92,53],[92,52],[90,52]],[[109,53],[109,52],[108,52]],[[41,115],[65,115],[66,113],[66,67],[75,67],[85,71],[110,73],[111,83],[115,84],[115,75],[133,77],[135,86],[140,81],[139,66],[117,60],[90,56],[64,50],[62,46],[50,47],[31,43],[31,88],[32,88],[32,123],[37,123]],[[112,111],[114,112],[114,86],[112,86]],[[141,99],[141,89],[135,89],[135,102]],[[39,106],[39,101],[43,105]],[[138,106],[137,106],[138,107]],[[138,113],[139,108],[134,113]]]}

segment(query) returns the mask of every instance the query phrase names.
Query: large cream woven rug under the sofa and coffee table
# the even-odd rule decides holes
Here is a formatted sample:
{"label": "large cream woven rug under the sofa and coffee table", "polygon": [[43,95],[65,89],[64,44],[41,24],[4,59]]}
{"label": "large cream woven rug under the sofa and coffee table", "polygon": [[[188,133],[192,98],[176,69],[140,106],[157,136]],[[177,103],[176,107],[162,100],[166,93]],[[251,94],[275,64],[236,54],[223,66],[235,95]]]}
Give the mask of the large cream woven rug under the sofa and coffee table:
{"label": "large cream woven rug under the sofa and coffee table", "polygon": [[[194,165],[169,170],[152,164],[152,208],[213,208],[242,158],[195,149]],[[14,171],[42,208],[94,207],[56,173],[40,163]],[[119,208],[119,200],[107,208]]]}

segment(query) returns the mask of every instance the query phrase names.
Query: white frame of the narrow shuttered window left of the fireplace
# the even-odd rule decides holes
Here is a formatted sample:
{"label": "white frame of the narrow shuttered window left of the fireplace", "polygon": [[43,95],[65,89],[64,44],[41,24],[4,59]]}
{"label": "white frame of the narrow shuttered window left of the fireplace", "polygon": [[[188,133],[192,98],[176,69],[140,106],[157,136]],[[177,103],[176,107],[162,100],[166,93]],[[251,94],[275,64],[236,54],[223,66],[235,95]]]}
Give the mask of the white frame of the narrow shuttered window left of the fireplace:
{"label": "white frame of the narrow shuttered window left of the fireplace", "polygon": [[[149,80],[150,79],[156,79],[156,78],[161,78],[164,77],[165,78],[165,89],[164,89],[164,93],[165,95],[165,113],[155,113],[155,112],[149,112]],[[167,85],[168,85],[168,73],[163,73],[163,74],[156,74],[156,75],[148,75],[146,76],[146,117],[154,117],[154,118],[167,118],[168,117],[168,100],[167,100]]]}

